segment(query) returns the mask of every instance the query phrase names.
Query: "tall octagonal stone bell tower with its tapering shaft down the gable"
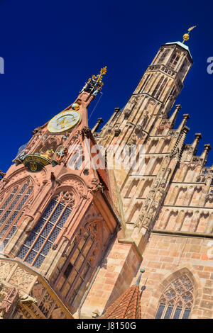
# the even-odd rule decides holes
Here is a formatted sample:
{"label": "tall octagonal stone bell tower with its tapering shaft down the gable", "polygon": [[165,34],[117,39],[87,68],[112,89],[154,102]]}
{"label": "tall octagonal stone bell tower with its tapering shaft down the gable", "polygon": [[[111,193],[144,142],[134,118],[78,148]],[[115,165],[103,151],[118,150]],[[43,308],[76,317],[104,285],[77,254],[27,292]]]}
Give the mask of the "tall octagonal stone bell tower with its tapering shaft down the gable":
{"label": "tall octagonal stone bell tower with its tapering shaft down the gable", "polygon": [[[116,108],[100,132],[95,132],[97,126],[94,128],[94,137],[107,154],[111,147],[121,152],[121,167],[118,169],[118,160],[114,160],[114,166],[109,171],[110,180],[117,188],[114,202],[123,216],[126,237],[132,237],[142,252],[144,237],[148,237],[189,130],[186,126],[187,114],[183,116],[178,130],[173,129],[181,106],[176,106],[172,115],[170,111],[192,63],[185,40],[182,43],[165,43],[146,69],[126,106],[122,110]],[[125,162],[126,151],[131,151],[133,147],[136,150],[130,154],[135,162],[126,168],[122,162]],[[137,162],[138,147],[143,147],[143,167],[138,165],[133,168],[132,165],[141,163]],[[116,159],[116,153],[114,156]],[[145,228],[142,227],[140,234],[138,227],[143,225]]]}

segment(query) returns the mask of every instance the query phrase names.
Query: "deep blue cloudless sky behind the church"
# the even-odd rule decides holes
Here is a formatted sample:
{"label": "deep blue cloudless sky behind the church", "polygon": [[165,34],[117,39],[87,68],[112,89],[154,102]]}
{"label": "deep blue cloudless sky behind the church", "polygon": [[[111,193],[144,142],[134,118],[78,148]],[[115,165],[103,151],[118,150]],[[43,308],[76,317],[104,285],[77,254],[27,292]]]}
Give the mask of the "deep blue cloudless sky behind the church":
{"label": "deep blue cloudless sky behind the church", "polygon": [[[101,67],[107,65],[108,72],[91,127],[125,105],[160,45],[182,41],[195,25],[187,42],[194,64],[177,99],[178,123],[189,113],[186,143],[202,132],[199,153],[204,143],[213,146],[213,74],[207,74],[207,58],[213,57],[212,1],[0,0],[0,13],[3,171],[31,131],[70,105]],[[213,152],[207,165],[212,162]]]}

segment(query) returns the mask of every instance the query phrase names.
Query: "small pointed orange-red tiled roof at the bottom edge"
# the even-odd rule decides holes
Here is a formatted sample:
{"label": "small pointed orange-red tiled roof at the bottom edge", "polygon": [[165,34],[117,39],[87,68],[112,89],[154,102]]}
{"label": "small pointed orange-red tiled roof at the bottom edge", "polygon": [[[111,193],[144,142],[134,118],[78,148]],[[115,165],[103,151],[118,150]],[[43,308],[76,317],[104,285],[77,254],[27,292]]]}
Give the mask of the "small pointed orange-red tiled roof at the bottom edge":
{"label": "small pointed orange-red tiled roof at the bottom edge", "polygon": [[141,319],[141,297],[138,286],[129,287],[99,319]]}

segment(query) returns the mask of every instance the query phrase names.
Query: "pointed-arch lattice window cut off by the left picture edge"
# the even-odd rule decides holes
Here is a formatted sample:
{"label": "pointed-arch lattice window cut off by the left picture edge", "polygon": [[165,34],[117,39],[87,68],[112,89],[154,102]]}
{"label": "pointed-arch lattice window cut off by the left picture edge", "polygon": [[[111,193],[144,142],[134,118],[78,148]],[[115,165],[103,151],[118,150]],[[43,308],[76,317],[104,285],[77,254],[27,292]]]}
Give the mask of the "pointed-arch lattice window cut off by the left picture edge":
{"label": "pointed-arch lattice window cut off by the left picture edge", "polygon": [[30,186],[30,181],[26,181],[22,186],[15,186],[5,201],[2,201],[0,206],[0,239],[4,246],[16,231],[16,225],[24,213],[24,205],[32,191],[33,187]]}

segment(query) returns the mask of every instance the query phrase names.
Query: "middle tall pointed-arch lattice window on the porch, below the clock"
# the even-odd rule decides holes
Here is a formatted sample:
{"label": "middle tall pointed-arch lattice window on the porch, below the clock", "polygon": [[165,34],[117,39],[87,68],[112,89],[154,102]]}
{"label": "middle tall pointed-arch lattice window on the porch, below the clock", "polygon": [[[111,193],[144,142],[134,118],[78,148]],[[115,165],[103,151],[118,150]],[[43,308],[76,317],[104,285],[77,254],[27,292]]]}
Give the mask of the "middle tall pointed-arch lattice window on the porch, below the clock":
{"label": "middle tall pointed-arch lattice window on the porch, below the clock", "polygon": [[53,198],[18,252],[18,257],[37,269],[53,247],[75,203],[72,193],[63,191]]}

